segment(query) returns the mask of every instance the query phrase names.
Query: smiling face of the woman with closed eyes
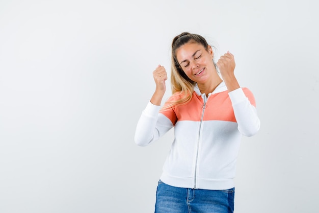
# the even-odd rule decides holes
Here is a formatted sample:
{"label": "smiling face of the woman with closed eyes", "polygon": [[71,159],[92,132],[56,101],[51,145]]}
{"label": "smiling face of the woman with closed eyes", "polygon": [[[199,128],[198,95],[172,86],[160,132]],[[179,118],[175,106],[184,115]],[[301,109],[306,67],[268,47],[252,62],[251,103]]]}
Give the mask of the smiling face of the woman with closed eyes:
{"label": "smiling face of the woman with closed eyes", "polygon": [[176,58],[184,73],[197,83],[205,83],[209,80],[215,69],[211,46],[208,51],[200,43],[189,42],[176,50]]}

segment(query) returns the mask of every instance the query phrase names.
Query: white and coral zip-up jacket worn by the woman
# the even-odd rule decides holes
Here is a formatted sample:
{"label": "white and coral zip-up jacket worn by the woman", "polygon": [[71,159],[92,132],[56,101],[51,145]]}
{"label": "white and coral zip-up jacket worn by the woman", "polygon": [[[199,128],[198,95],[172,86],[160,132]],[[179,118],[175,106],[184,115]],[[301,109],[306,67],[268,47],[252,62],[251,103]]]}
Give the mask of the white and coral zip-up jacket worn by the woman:
{"label": "white and coral zip-up jacket worn by the woman", "polygon": [[[178,98],[175,94],[168,101]],[[160,110],[148,103],[137,124],[135,142],[147,146],[174,127],[161,180],[184,188],[234,187],[242,135],[252,136],[260,127],[251,91],[238,88],[228,93],[222,82],[206,98],[195,86],[190,102]]]}

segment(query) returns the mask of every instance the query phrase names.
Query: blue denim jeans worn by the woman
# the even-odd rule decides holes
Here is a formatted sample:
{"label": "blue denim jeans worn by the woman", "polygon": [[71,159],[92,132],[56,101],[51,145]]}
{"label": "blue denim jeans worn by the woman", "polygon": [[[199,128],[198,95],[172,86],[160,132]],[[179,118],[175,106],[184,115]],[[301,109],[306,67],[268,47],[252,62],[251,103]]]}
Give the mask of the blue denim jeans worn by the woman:
{"label": "blue denim jeans worn by the woman", "polygon": [[155,213],[233,213],[235,189],[179,188],[158,181]]}

